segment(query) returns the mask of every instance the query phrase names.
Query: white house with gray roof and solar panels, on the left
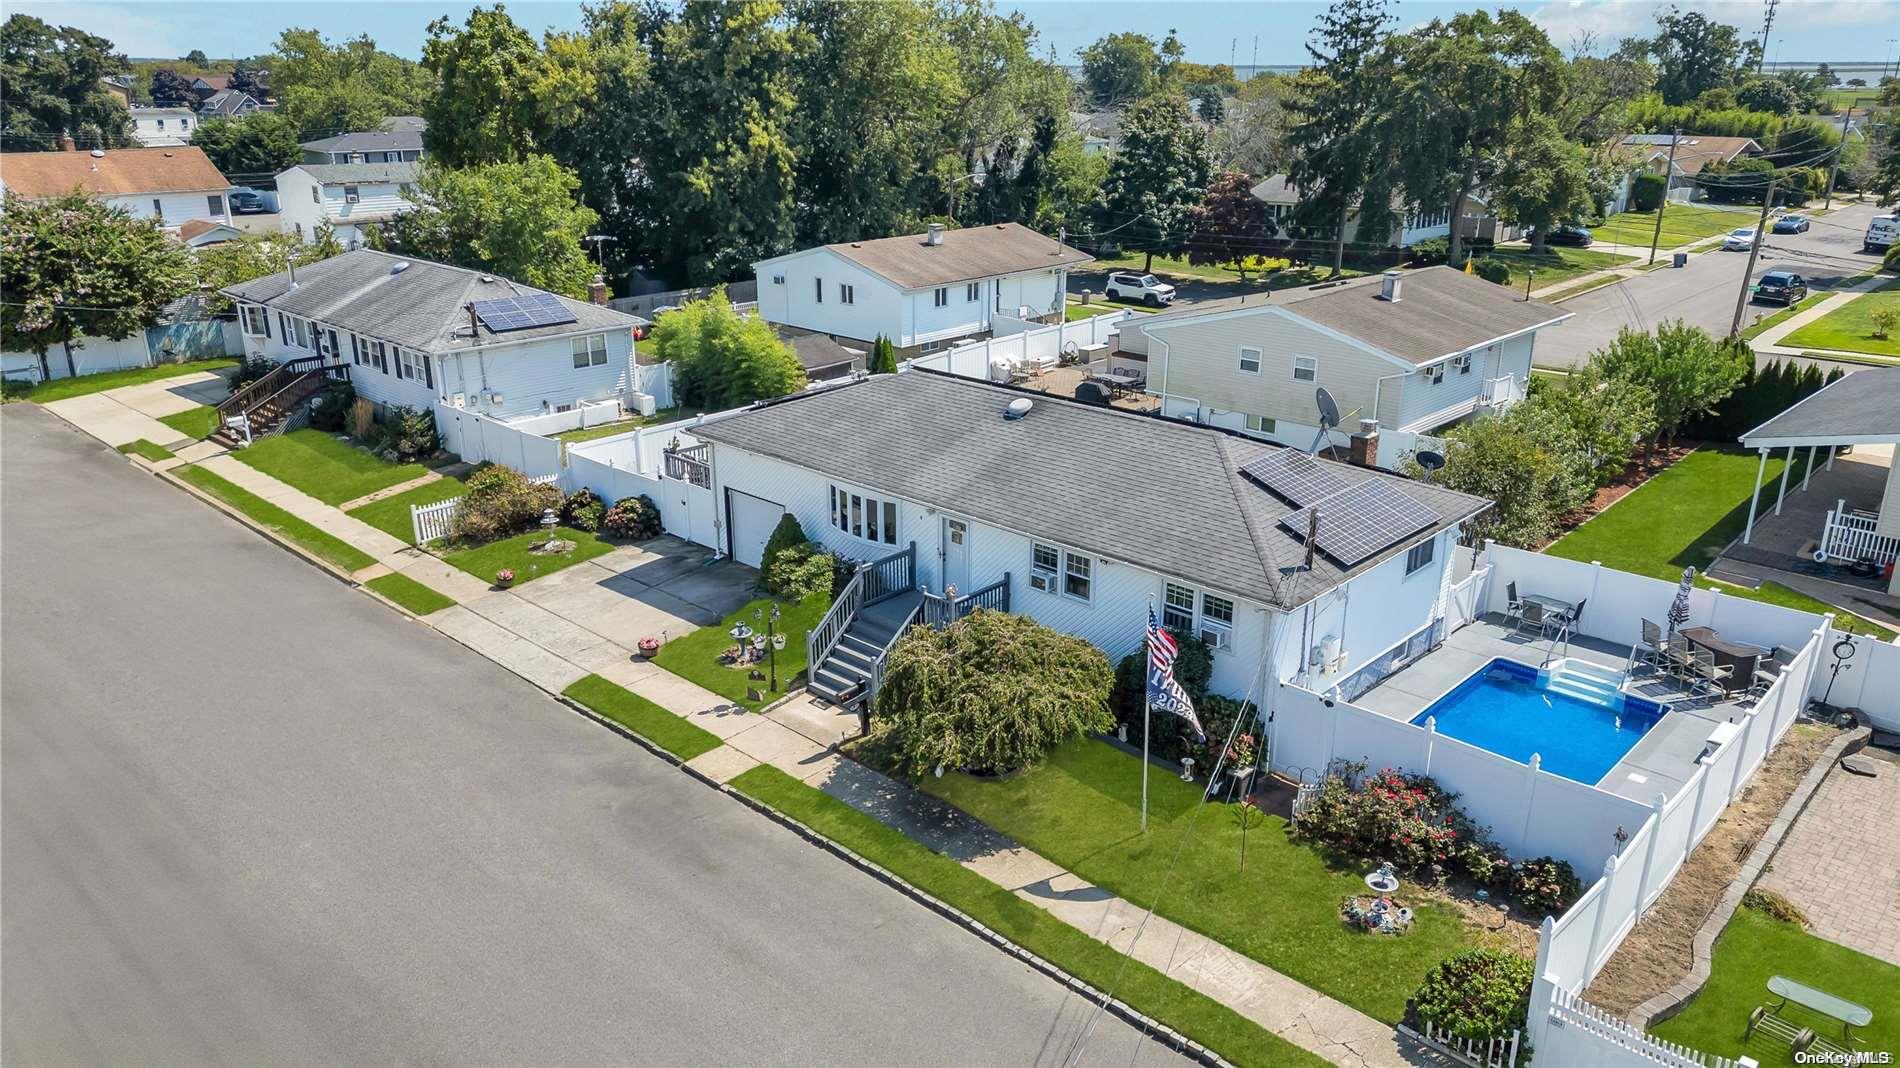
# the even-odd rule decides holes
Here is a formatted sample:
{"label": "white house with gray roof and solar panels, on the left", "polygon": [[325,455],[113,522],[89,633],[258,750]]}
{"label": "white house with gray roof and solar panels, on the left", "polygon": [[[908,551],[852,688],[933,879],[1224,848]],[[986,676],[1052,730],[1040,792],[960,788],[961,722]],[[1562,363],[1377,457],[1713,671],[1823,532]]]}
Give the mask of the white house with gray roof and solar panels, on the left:
{"label": "white house with gray roof and solar panels, on the left", "polygon": [[[376,405],[515,418],[636,390],[646,319],[505,277],[357,249],[222,291],[245,355],[346,363]],[[298,367],[304,367],[300,363]]]}

